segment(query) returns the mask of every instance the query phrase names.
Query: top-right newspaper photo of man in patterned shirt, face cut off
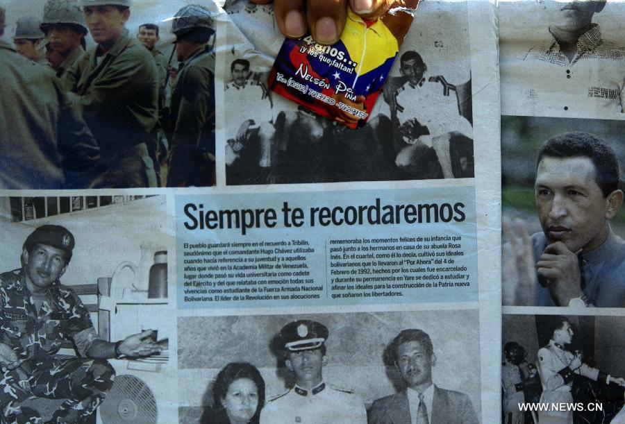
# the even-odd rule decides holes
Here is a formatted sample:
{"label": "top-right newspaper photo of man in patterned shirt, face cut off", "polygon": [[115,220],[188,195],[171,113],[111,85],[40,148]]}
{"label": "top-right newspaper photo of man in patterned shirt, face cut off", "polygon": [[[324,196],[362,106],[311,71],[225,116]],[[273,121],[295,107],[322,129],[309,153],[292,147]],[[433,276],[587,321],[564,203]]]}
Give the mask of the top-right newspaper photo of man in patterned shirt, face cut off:
{"label": "top-right newspaper photo of man in patterned shirt, face cut off", "polygon": [[622,12],[606,0],[503,4],[503,114],[624,119]]}

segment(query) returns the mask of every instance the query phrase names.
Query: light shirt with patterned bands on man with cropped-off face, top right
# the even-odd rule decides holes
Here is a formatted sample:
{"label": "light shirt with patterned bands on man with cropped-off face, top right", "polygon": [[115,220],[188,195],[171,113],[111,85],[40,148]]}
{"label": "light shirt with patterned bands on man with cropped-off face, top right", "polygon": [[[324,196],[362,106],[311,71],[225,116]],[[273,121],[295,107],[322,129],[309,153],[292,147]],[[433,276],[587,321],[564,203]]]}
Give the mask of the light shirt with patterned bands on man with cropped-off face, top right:
{"label": "light shirt with patterned bands on man with cropped-off face, top right", "polygon": [[581,35],[570,62],[551,33],[545,39],[502,56],[502,115],[624,119],[625,49],[603,40],[599,25]]}

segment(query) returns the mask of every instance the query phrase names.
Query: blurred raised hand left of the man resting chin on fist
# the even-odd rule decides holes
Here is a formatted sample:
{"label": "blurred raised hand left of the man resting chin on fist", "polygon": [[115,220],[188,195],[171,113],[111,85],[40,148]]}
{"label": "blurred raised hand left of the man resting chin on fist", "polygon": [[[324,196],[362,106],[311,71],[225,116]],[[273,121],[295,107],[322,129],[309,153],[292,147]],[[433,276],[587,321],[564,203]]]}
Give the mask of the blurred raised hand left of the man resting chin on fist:
{"label": "blurred raised hand left of the man resting chin on fist", "polygon": [[505,306],[536,305],[536,269],[532,241],[520,219],[502,221],[502,300]]}

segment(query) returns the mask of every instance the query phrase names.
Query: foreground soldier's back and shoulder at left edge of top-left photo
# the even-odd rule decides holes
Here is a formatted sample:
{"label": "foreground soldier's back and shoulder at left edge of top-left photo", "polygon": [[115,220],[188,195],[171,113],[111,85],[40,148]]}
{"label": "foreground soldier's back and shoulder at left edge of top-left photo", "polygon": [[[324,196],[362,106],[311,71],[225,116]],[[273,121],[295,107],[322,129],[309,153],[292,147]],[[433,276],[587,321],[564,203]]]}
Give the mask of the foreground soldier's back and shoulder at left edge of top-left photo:
{"label": "foreground soldier's back and shoulder at left edge of top-left photo", "polygon": [[[0,8],[0,36],[4,10]],[[0,188],[85,188],[98,146],[49,67],[0,40]]]}

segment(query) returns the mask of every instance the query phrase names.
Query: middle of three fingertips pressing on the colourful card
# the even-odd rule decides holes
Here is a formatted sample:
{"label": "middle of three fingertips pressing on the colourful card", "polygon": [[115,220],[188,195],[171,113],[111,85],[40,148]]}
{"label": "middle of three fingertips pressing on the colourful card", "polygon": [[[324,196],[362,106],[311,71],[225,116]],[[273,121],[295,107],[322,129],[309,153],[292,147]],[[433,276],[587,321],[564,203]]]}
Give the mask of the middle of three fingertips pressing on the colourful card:
{"label": "middle of three fingertips pressing on the colourful card", "polygon": [[308,0],[306,18],[313,38],[319,44],[338,42],[347,18],[346,0]]}

